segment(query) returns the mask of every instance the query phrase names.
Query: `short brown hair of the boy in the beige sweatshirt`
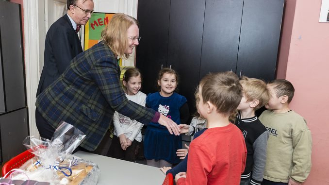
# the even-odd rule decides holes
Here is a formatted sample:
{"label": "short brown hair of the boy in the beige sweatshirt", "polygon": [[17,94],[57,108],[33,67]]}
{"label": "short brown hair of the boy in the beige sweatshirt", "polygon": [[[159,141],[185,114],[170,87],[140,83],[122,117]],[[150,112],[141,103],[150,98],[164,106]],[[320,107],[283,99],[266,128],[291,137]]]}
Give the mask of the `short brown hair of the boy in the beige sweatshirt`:
{"label": "short brown hair of the boy in the beige sweatshirt", "polygon": [[288,103],[290,103],[293,100],[295,94],[295,88],[293,84],[291,84],[289,81],[284,79],[277,79],[271,81],[268,84],[271,85],[276,90],[275,95],[277,96],[277,98],[286,95],[288,96]]}

